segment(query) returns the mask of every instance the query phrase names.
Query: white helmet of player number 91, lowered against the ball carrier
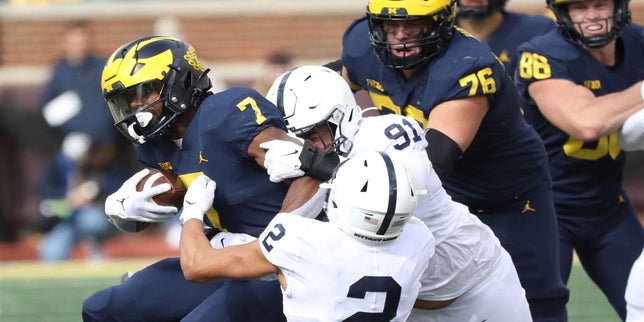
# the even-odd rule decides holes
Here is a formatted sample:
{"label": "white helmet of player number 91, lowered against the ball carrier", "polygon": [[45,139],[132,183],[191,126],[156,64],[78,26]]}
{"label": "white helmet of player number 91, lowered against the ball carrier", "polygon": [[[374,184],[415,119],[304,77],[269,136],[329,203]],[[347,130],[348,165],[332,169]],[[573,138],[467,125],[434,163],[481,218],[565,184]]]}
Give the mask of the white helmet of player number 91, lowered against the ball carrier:
{"label": "white helmet of player number 91, lowered against the ball carrier", "polygon": [[280,75],[266,97],[280,110],[286,126],[303,137],[319,125],[327,125],[331,144],[341,155],[351,151],[353,137],[362,119],[347,82],[324,66],[301,66]]}

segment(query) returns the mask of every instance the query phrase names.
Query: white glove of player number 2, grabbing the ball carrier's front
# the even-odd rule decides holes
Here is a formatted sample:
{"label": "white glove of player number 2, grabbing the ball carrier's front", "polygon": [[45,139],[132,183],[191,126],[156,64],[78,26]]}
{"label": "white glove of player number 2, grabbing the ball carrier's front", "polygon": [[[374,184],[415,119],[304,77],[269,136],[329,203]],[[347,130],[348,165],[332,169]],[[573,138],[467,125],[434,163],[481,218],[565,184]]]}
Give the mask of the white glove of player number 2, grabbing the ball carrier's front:
{"label": "white glove of player number 2, grabbing the ball carrier's front", "polygon": [[204,174],[192,181],[186,191],[186,196],[183,197],[183,209],[179,217],[181,225],[190,219],[198,219],[203,222],[203,215],[212,207],[216,188],[215,181]]}

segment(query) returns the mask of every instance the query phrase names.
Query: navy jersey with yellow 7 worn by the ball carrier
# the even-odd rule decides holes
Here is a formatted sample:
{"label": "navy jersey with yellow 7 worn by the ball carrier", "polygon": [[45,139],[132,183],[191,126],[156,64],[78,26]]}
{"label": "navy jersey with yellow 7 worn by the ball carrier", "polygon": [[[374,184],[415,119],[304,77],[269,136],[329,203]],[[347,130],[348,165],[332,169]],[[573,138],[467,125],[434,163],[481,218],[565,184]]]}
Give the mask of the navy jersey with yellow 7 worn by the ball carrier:
{"label": "navy jersey with yellow 7 worn by the ball carrier", "polygon": [[258,236],[281,208],[288,185],[272,183],[248,155],[257,134],[274,126],[286,131],[280,112],[258,92],[231,88],[208,96],[187,128],[182,147],[167,138],[139,145],[140,161],[172,170],[189,186],[204,173],[217,183],[206,223]]}

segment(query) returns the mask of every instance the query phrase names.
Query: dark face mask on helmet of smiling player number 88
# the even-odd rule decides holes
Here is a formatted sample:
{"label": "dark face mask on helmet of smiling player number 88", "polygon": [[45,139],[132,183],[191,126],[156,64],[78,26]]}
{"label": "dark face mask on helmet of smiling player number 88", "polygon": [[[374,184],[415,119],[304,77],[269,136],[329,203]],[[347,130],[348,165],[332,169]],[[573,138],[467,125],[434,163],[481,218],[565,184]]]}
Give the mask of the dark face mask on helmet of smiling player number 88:
{"label": "dark face mask on helmet of smiling player number 88", "polygon": [[[557,24],[561,34],[589,48],[604,47],[622,34],[624,28],[631,23],[631,11],[629,9],[629,0],[614,0],[613,15],[596,19],[594,22],[602,23],[610,27],[608,32],[601,35],[585,35],[580,30],[581,24],[587,21],[572,21],[568,8],[570,4],[581,3],[584,0],[546,0],[548,7],[557,18]],[[612,25],[612,27],[611,27]]]}

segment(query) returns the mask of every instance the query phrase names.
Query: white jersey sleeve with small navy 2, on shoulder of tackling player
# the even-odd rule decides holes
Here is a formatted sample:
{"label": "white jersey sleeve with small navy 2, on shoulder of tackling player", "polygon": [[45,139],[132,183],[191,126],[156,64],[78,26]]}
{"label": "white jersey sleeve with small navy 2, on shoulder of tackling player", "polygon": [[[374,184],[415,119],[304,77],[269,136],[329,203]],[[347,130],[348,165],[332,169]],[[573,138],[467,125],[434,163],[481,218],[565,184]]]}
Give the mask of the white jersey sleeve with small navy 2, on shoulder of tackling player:
{"label": "white jersey sleeve with small navy 2, on shoulder of tackling player", "polygon": [[310,220],[279,213],[259,235],[259,245],[266,259],[281,270],[293,271],[300,259],[300,239],[306,231],[298,222]]}

